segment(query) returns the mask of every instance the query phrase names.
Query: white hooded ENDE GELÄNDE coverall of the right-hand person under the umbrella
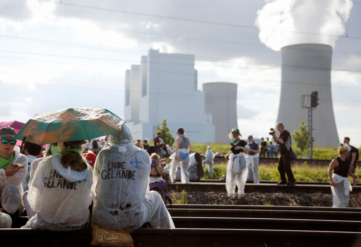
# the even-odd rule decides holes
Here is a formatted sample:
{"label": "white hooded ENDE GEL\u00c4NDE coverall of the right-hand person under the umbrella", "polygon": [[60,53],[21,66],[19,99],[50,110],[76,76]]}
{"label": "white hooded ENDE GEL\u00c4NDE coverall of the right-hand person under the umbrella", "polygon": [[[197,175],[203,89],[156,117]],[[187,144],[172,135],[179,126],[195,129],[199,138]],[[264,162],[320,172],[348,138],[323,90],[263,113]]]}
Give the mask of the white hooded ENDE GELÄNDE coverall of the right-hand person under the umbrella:
{"label": "white hooded ENDE GEL\u00c4NDE coverall of the right-hand person under the umbrella", "polygon": [[94,165],[93,222],[110,230],[134,230],[146,222],[153,228],[175,228],[162,197],[149,191],[151,160],[132,143],[127,125],[109,142]]}

